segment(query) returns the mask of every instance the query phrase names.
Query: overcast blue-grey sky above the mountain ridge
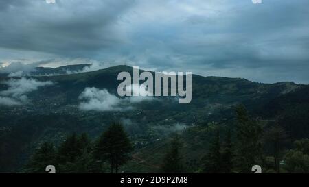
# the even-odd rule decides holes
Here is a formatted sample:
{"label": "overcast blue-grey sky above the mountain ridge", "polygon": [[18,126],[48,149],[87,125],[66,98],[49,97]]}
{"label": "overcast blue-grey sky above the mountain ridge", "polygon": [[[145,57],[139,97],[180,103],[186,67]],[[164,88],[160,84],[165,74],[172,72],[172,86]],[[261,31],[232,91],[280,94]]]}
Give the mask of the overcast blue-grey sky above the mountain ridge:
{"label": "overcast blue-grey sky above the mountain ridge", "polygon": [[0,73],[119,64],[309,84],[308,0],[1,0]]}

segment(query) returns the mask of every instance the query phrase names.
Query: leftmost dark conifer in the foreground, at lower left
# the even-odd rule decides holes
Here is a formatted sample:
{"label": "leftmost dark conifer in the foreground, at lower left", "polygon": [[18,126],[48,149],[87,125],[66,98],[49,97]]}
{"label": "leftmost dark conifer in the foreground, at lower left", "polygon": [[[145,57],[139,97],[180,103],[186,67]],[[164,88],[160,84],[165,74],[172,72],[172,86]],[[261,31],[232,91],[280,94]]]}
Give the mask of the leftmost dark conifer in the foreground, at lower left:
{"label": "leftmost dark conifer in the foreground, at lower left", "polygon": [[56,151],[54,145],[49,142],[43,143],[32,155],[25,171],[27,173],[46,173],[45,168],[48,165],[55,165]]}

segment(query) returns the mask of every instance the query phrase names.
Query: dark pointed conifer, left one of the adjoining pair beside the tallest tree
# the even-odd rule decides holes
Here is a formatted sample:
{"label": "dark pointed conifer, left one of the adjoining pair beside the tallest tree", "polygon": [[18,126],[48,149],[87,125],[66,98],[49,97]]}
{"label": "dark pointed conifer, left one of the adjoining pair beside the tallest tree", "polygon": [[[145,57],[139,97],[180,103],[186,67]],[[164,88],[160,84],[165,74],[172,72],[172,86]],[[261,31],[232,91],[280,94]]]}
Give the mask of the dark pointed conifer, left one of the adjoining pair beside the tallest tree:
{"label": "dark pointed conifer, left one of the adjoining pair beside the tallest tree", "polygon": [[216,136],[211,144],[207,155],[202,159],[203,160],[203,172],[204,173],[221,173],[222,171],[222,162],[221,162],[221,153],[220,153],[220,134],[216,133]]}

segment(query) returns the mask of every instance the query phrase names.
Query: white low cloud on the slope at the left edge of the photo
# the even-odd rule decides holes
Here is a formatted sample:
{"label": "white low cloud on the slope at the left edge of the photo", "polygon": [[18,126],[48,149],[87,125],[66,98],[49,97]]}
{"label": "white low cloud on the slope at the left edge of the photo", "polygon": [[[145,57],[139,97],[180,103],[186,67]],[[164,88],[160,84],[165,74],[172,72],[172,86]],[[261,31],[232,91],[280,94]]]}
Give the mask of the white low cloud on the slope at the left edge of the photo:
{"label": "white low cloud on the slope at the left edge of the photo", "polygon": [[49,86],[53,83],[50,81],[40,82],[36,79],[10,79],[2,82],[8,86],[7,90],[0,92],[0,105],[21,105],[28,102],[27,93],[37,90],[39,87]]}

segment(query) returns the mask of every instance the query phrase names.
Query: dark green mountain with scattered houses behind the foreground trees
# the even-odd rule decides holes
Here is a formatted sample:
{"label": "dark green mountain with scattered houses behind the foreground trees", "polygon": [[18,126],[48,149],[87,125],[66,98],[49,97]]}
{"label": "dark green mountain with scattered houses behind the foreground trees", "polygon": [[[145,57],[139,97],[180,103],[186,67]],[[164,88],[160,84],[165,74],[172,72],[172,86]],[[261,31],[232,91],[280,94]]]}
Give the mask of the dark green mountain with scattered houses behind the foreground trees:
{"label": "dark green mountain with scattered houses behind the foreground trees", "polygon": [[[50,74],[77,71],[84,66],[89,64],[39,71]],[[27,93],[28,102],[23,105],[0,105],[0,171],[22,171],[36,147],[47,140],[58,145],[71,132],[87,132],[95,138],[112,121],[124,123],[134,142],[134,159],[126,171],[157,171],[166,142],[176,132],[185,141],[185,158],[195,163],[207,149],[207,141],[213,136],[211,129],[233,129],[233,108],[238,104],[245,105],[266,127],[278,120],[288,130],[291,142],[308,138],[309,86],[293,82],[262,84],[240,78],[192,75],[190,104],[180,105],[174,97],[141,102],[122,98],[118,110],[80,108],[80,95],[85,88],[106,89],[117,95],[117,75],[122,71],[132,73],[133,68],[113,66],[87,73],[27,77],[53,84]],[[9,79],[12,78],[1,77],[0,81]],[[8,85],[0,84],[0,92],[7,89]]]}

